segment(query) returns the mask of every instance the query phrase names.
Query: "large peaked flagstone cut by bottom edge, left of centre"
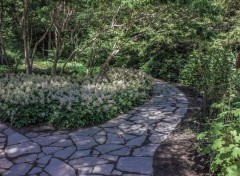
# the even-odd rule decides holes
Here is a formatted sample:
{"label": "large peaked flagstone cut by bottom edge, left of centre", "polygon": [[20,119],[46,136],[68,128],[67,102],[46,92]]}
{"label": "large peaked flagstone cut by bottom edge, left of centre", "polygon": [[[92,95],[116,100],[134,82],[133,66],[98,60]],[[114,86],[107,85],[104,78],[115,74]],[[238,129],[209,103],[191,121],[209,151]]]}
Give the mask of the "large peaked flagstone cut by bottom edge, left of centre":
{"label": "large peaked flagstone cut by bottom edge, left of centre", "polygon": [[52,158],[48,166],[44,169],[51,176],[75,176],[75,170],[59,159]]}

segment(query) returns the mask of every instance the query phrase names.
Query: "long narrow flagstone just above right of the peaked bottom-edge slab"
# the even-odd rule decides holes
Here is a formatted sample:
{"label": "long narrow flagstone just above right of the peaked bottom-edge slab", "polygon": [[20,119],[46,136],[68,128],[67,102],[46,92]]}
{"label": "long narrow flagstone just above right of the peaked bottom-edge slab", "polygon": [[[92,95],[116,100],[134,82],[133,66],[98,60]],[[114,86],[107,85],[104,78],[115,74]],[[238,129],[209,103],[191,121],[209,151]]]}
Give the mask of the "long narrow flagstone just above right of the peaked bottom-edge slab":
{"label": "long narrow flagstone just above right of the peaked bottom-edge slab", "polygon": [[108,163],[108,160],[100,159],[96,157],[83,157],[69,162],[74,168],[85,167],[85,166],[95,166],[99,164]]}

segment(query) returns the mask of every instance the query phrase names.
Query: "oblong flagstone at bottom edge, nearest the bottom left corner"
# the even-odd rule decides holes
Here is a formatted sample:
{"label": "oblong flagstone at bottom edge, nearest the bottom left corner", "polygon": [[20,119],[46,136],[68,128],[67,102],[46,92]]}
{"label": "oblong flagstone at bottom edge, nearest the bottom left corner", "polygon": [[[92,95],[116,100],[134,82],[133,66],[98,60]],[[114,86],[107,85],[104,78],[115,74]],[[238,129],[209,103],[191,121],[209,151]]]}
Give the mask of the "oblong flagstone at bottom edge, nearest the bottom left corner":
{"label": "oblong flagstone at bottom edge, nearest the bottom left corner", "polygon": [[25,175],[28,173],[28,171],[32,168],[31,164],[27,163],[21,163],[21,164],[16,164],[13,165],[6,173],[3,175],[9,175],[9,176],[14,176],[14,175]]}

